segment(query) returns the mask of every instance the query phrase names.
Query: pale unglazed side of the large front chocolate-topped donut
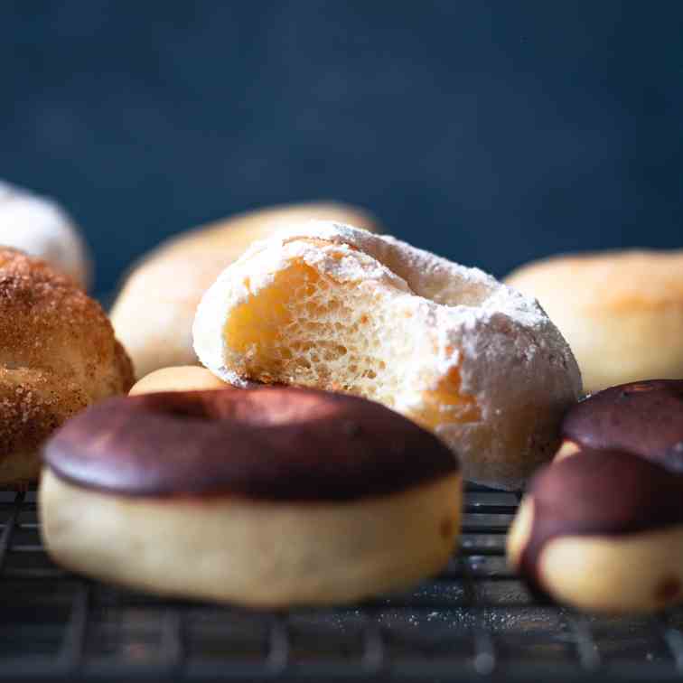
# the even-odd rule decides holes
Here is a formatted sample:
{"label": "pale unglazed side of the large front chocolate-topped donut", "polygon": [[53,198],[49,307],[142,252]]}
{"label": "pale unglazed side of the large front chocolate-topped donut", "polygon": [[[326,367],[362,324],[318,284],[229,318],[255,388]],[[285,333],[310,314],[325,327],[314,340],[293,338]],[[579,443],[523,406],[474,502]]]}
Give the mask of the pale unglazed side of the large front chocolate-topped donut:
{"label": "pale unglazed side of the large front chocolate-topped donut", "polygon": [[266,608],[352,602],[435,574],[460,529],[459,486],[453,475],[328,504],[139,499],[48,471],[39,504],[44,542],[62,566],[154,593]]}

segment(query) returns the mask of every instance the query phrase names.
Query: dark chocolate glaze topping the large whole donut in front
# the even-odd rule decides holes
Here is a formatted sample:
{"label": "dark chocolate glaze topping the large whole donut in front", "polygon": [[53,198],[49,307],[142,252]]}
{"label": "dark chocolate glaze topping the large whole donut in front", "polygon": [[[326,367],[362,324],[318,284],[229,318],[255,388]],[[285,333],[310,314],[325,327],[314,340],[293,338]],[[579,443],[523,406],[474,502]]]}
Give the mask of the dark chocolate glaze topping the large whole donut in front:
{"label": "dark chocolate glaze topping the large whole donut in front", "polygon": [[378,403],[313,389],[112,398],[63,426],[44,461],[80,486],[128,496],[347,501],[457,472],[434,435]]}

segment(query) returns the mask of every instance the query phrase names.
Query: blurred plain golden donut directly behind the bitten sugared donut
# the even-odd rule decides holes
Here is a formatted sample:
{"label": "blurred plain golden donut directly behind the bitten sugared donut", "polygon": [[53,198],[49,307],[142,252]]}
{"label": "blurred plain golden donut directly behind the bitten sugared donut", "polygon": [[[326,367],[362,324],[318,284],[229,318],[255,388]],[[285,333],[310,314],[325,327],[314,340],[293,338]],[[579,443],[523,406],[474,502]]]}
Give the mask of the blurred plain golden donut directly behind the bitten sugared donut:
{"label": "blurred plain golden donut directly behind the bitten sugared donut", "polygon": [[333,202],[249,211],[193,229],[162,244],[127,277],[111,312],[117,337],[133,358],[137,378],[176,365],[198,365],[192,321],[201,295],[255,239],[311,218],[358,221],[377,229],[368,213]]}

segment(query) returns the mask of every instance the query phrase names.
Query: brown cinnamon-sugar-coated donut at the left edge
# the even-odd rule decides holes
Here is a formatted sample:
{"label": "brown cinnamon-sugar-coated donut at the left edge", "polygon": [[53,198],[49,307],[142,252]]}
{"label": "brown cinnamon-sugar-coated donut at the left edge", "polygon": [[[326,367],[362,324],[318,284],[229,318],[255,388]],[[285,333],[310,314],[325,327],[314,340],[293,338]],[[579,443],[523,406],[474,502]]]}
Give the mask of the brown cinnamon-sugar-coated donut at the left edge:
{"label": "brown cinnamon-sugar-coated donut at the left edge", "polygon": [[74,413],[126,392],[133,370],[107,316],[45,261],[0,248],[0,486],[40,471],[39,447]]}

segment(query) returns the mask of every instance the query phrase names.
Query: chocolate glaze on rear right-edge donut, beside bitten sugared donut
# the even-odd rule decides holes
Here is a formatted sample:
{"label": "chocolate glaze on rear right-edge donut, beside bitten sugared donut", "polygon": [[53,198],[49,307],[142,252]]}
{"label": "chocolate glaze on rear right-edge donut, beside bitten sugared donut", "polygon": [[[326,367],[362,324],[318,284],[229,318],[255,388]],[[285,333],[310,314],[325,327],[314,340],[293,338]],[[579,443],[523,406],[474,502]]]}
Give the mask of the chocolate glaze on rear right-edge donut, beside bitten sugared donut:
{"label": "chocolate glaze on rear right-edge donut, beside bitten sugared donut", "polygon": [[605,389],[573,407],[562,436],[586,448],[613,448],[683,472],[683,379]]}

